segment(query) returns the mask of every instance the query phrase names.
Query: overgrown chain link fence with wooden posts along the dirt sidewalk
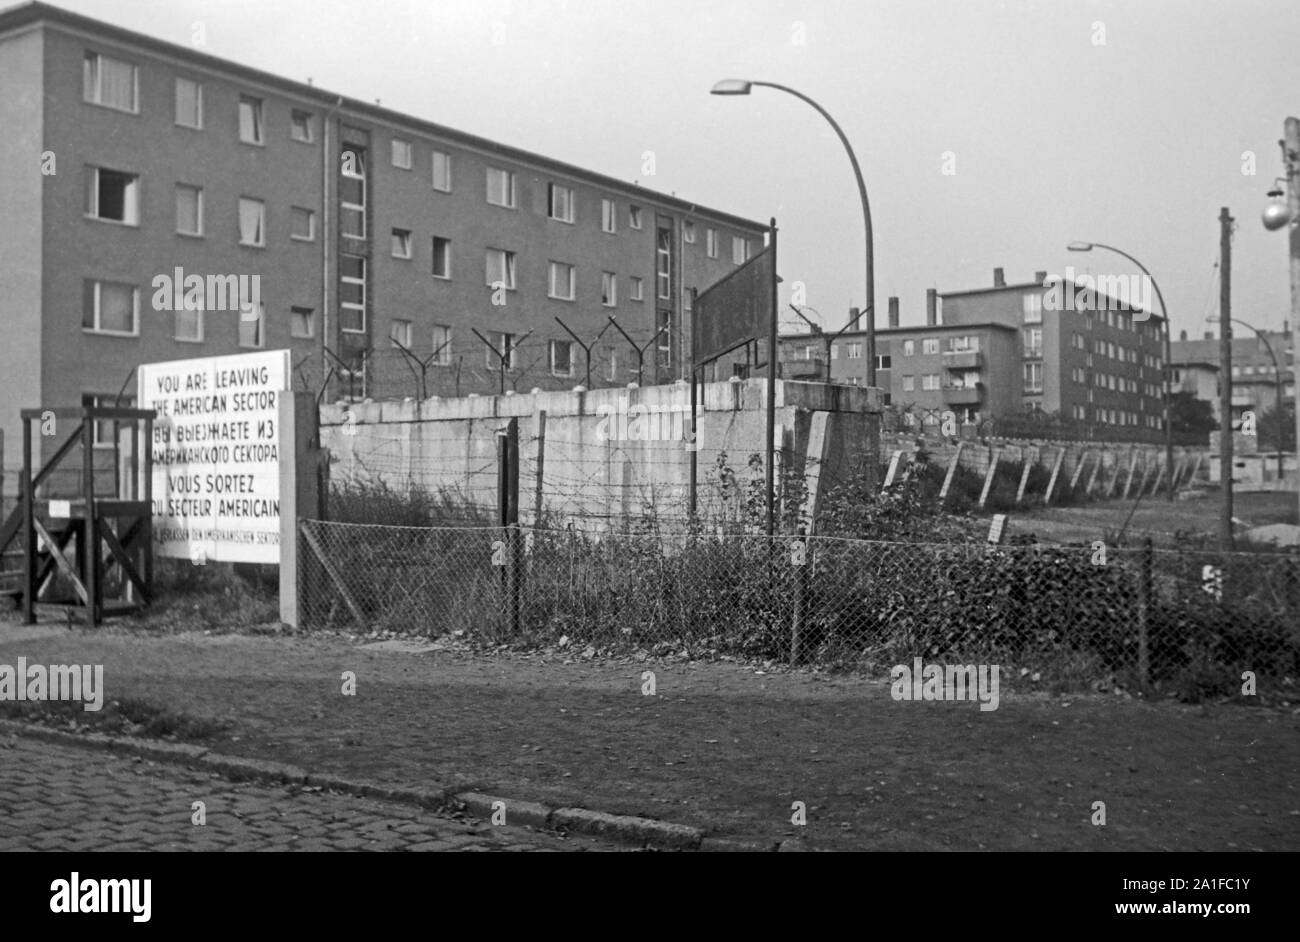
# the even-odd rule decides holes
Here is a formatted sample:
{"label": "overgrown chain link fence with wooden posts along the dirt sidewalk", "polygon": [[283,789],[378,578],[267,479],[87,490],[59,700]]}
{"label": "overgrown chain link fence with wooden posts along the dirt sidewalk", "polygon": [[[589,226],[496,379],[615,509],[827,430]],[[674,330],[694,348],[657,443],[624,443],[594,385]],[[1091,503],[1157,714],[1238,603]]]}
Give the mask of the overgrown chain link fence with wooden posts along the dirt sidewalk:
{"label": "overgrown chain link fence with wooden posts along the dirt sidewalk", "polygon": [[1192,699],[1239,693],[1244,672],[1271,690],[1300,676],[1297,555],[324,521],[300,533],[309,628],[867,670],[920,657]]}

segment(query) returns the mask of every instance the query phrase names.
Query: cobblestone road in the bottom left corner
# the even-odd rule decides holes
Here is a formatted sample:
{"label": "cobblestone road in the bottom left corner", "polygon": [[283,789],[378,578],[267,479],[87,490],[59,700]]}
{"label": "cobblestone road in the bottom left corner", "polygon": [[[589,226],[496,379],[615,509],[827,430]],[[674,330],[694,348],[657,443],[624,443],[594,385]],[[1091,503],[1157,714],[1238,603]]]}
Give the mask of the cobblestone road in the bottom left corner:
{"label": "cobblestone road in the bottom left corner", "polygon": [[[192,822],[203,802],[207,824]],[[391,802],[21,737],[0,739],[0,851],[620,850]]]}

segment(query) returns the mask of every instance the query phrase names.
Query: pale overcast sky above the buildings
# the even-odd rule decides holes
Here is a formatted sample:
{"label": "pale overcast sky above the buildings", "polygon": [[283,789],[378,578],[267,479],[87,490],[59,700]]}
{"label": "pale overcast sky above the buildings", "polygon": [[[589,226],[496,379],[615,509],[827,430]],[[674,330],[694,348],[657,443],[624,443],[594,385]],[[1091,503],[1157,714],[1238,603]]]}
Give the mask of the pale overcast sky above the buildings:
{"label": "pale overcast sky above the buildings", "polygon": [[[571,161],[781,229],[780,272],[835,327],[864,295],[858,153],[876,305],[924,320],[959,291],[1114,244],[1178,330],[1218,311],[1218,212],[1238,220],[1234,314],[1288,318],[1287,248],[1258,213],[1300,114],[1295,0],[56,0],[127,29]],[[9,5],[5,3],[4,5]],[[1102,40],[1104,39],[1104,44]],[[1290,92],[1290,94],[1288,94]],[[642,155],[654,155],[654,175]],[[1256,160],[1243,173],[1243,152]],[[945,152],[956,174],[944,174]]]}

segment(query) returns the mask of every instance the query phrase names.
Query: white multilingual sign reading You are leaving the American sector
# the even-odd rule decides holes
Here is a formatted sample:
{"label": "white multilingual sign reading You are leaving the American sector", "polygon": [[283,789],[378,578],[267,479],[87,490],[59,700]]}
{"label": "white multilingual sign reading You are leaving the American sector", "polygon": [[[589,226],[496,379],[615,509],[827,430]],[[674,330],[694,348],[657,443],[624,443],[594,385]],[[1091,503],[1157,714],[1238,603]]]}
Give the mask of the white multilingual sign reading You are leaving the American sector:
{"label": "white multilingual sign reading You are leaving the American sector", "polygon": [[[192,561],[280,563],[280,392],[290,353],[151,363],[153,551]],[[292,443],[283,443],[292,447]]]}

